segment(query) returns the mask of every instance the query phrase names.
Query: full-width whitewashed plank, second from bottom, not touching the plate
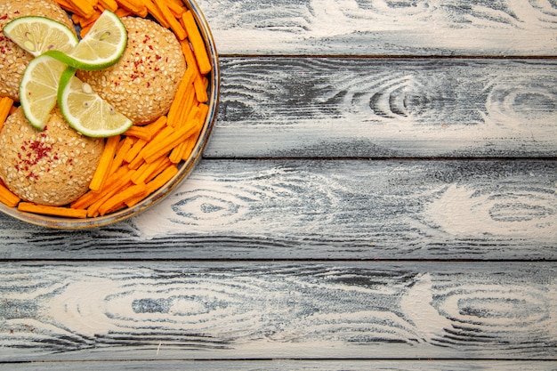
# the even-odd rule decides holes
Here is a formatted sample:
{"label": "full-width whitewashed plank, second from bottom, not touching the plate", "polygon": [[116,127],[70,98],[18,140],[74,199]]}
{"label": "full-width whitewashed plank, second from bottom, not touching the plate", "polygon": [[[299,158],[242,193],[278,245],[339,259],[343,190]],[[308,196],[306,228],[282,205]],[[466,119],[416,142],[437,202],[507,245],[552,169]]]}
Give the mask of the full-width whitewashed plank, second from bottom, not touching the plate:
{"label": "full-width whitewashed plank, second from bottom, not touching the plate", "polygon": [[557,357],[553,262],[7,262],[0,359]]}

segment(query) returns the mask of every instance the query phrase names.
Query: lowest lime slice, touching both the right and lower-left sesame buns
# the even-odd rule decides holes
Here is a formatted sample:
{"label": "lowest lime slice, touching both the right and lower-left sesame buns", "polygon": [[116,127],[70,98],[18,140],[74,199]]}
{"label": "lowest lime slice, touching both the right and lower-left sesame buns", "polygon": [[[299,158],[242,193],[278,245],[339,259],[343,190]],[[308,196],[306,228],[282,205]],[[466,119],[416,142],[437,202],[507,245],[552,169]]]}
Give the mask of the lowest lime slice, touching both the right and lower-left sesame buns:
{"label": "lowest lime slice, touching both the right and lower-left sesame buns", "polygon": [[72,67],[65,69],[58,89],[58,105],[71,127],[86,136],[109,137],[124,133],[133,125],[75,73]]}

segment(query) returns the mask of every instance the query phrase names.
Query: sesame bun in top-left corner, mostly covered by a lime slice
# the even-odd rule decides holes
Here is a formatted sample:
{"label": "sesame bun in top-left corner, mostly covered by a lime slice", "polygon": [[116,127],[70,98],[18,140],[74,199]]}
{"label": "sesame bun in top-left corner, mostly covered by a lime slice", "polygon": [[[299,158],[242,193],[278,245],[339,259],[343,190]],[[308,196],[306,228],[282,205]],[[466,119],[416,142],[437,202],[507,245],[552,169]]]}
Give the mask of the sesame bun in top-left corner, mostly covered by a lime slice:
{"label": "sesame bun in top-left corner, mostly covered by a lime slice", "polygon": [[[68,13],[52,0],[0,0],[0,31],[11,20],[36,15],[57,20],[75,29]],[[0,96],[20,100],[20,82],[33,56],[0,33]]]}

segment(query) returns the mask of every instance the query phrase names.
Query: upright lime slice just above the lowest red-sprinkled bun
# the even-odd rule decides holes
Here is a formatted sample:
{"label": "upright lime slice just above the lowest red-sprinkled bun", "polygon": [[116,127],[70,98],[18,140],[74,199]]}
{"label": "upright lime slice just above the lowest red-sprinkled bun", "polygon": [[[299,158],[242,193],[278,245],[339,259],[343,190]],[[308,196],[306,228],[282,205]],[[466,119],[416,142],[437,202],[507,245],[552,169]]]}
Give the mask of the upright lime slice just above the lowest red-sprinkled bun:
{"label": "upright lime slice just above the lowest red-sprinkled bun", "polygon": [[43,130],[56,105],[58,83],[66,65],[46,55],[28,63],[20,84],[21,109],[28,122]]}

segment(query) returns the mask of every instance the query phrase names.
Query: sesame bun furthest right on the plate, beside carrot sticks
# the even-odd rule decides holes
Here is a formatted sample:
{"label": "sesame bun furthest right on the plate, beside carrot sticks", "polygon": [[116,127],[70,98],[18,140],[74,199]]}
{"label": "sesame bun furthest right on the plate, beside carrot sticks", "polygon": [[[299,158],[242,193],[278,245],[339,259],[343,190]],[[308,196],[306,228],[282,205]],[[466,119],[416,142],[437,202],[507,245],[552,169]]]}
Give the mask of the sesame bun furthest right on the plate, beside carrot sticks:
{"label": "sesame bun furthest right on the plate, beside carrot sticks", "polygon": [[174,33],[152,20],[122,18],[128,33],[124,55],[108,69],[77,71],[77,77],[135,124],[149,123],[170,109],[186,71]]}

